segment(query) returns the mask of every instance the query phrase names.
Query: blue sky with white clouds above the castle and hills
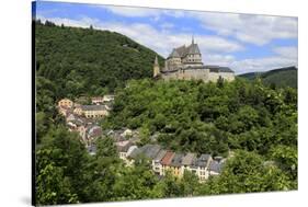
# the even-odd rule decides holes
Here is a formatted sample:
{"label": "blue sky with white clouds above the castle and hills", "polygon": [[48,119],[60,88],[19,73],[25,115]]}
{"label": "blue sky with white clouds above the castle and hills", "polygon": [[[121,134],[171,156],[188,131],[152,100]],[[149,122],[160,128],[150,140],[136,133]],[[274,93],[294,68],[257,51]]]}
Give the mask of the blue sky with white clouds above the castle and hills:
{"label": "blue sky with white clouds above the castle and hills", "polygon": [[204,65],[237,74],[298,66],[297,18],[38,1],[36,19],[124,34],[164,58],[198,44]]}

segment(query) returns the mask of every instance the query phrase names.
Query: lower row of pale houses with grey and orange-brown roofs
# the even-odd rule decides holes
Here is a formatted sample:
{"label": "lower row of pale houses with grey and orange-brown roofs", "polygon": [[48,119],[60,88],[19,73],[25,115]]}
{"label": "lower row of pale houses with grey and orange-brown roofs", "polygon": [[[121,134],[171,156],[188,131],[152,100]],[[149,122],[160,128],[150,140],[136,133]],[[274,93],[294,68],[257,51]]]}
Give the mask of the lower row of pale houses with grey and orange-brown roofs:
{"label": "lower row of pale houses with grey and orange-brown roofs", "polygon": [[213,158],[210,154],[203,153],[179,153],[166,150],[159,145],[145,145],[138,148],[134,141],[124,140],[115,142],[119,158],[124,160],[127,166],[140,157],[145,157],[151,162],[152,171],[163,176],[167,171],[174,176],[182,177],[185,171],[197,175],[201,182],[204,182],[210,175],[218,175],[225,164],[226,159],[221,157]]}

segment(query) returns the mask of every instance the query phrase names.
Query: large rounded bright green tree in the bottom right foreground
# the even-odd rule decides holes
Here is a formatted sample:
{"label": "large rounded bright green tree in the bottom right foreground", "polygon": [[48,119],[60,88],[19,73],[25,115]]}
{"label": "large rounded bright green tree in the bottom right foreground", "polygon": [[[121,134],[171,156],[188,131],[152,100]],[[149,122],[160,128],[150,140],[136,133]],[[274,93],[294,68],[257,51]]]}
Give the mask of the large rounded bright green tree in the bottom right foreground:
{"label": "large rounded bright green tree in the bottom right foreground", "polygon": [[240,150],[227,161],[223,173],[210,179],[201,192],[230,194],[288,189],[292,189],[292,183],[283,171],[267,164],[254,152]]}

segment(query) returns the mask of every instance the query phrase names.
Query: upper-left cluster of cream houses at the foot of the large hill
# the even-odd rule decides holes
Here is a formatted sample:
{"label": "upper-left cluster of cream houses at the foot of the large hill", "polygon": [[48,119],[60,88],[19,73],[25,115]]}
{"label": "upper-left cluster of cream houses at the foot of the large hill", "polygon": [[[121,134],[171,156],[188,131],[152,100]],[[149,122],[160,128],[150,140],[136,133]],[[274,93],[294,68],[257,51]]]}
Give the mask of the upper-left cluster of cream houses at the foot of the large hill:
{"label": "upper-left cluster of cream houses at the foot of the large hill", "polygon": [[66,118],[66,124],[70,131],[77,131],[89,151],[93,151],[92,141],[102,136],[102,128],[98,125],[98,118],[109,115],[113,95],[102,97],[91,97],[91,105],[73,103],[69,99],[58,102],[58,112]]}

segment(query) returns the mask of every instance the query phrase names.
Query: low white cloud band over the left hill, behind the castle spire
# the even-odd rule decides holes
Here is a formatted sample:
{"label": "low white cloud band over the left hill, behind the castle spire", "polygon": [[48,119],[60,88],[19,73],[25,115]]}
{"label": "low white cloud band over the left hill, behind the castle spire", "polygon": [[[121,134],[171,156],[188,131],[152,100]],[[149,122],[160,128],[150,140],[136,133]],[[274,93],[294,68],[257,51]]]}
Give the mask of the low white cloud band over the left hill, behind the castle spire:
{"label": "low white cloud band over the left hill, behind the castle spire", "polygon": [[[38,16],[42,21],[45,21],[44,16]],[[124,24],[119,22],[103,22],[98,19],[89,19],[83,16],[80,20],[69,19],[48,19],[56,24],[70,26],[89,27],[92,24],[95,28],[110,30],[122,33],[134,41],[158,51],[167,57],[173,47],[179,47],[183,44],[191,43],[191,34],[185,33],[172,33],[168,30],[158,31],[149,24],[134,23]],[[243,46],[218,36],[210,35],[197,35],[195,41],[198,43],[199,48],[203,48],[206,53],[232,53],[242,50]]]}

